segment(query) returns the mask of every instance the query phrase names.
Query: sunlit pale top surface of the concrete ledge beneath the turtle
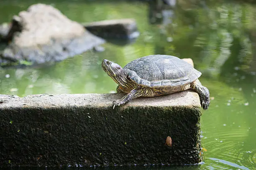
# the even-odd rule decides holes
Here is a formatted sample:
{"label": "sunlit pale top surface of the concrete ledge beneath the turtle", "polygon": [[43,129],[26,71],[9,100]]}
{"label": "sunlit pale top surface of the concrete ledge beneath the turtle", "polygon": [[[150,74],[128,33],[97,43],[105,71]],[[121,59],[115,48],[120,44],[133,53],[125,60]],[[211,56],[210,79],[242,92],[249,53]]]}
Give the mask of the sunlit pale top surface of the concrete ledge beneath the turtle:
{"label": "sunlit pale top surface of the concrete ledge beneath the turtle", "polygon": [[[5,107],[54,107],[60,106],[100,106],[110,107],[113,100],[118,100],[124,96],[124,93],[107,93],[107,94],[39,94],[39,95],[28,95],[25,97],[11,97],[5,95],[0,97],[0,100],[5,100],[0,105],[0,108]],[[127,104],[120,106],[119,109],[126,107],[143,107],[143,106],[157,106],[157,107],[170,107],[170,106],[200,106],[199,96],[192,90],[186,90],[177,92],[172,95],[164,95],[157,97],[139,97],[131,100]]]}

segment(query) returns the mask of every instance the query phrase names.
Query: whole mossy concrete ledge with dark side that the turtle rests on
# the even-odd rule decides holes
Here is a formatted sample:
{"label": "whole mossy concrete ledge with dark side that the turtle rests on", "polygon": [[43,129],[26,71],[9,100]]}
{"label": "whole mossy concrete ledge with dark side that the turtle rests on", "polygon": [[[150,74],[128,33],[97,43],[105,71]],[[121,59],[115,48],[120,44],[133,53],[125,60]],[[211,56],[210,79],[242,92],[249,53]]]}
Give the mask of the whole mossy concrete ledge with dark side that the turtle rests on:
{"label": "whole mossy concrete ledge with dark side that the turtle rests on", "polygon": [[[186,90],[123,94],[0,97],[0,166],[184,165],[200,158],[201,107]],[[172,138],[166,145],[166,138]]]}

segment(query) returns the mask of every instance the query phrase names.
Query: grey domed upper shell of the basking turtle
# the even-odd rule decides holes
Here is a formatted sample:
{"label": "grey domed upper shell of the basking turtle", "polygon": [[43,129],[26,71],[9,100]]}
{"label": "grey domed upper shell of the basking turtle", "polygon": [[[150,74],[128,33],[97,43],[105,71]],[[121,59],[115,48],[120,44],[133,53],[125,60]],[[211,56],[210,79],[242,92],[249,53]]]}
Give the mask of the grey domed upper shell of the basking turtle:
{"label": "grey domed upper shell of the basking turtle", "polygon": [[202,74],[188,62],[171,55],[141,57],[123,69],[133,82],[146,87],[184,86]]}

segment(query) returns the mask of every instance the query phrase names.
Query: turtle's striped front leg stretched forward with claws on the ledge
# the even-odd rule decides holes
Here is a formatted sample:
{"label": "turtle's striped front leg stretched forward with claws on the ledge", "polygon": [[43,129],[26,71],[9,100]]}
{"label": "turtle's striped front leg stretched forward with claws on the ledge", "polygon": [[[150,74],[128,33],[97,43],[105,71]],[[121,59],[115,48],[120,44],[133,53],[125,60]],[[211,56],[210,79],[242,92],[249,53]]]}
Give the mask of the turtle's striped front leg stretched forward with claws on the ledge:
{"label": "turtle's striped front leg stretched forward with claws on the ledge", "polygon": [[124,105],[125,103],[129,102],[130,100],[140,97],[141,95],[142,95],[141,89],[135,88],[135,89],[131,90],[131,92],[129,92],[127,95],[122,97],[120,100],[114,100],[112,103],[113,109],[115,108],[115,106]]}

